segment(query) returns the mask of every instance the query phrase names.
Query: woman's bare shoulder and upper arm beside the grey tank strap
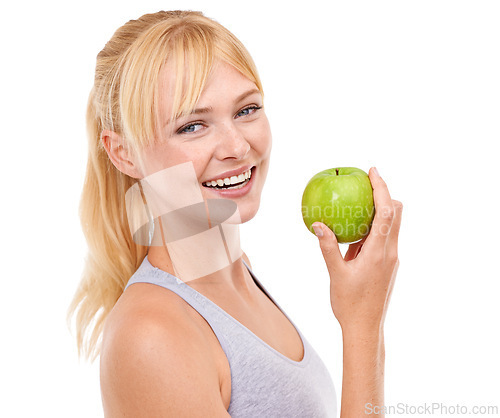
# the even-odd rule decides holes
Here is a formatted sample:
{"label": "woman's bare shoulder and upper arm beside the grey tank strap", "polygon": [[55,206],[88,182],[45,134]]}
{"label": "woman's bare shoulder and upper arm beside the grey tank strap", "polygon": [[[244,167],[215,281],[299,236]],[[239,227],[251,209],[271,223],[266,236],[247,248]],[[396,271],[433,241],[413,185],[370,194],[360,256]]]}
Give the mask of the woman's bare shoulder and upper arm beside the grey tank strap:
{"label": "woman's bare shoulder and upper arm beside the grey tank strap", "polygon": [[173,292],[137,283],[106,320],[100,360],[106,417],[227,417],[206,335]]}

